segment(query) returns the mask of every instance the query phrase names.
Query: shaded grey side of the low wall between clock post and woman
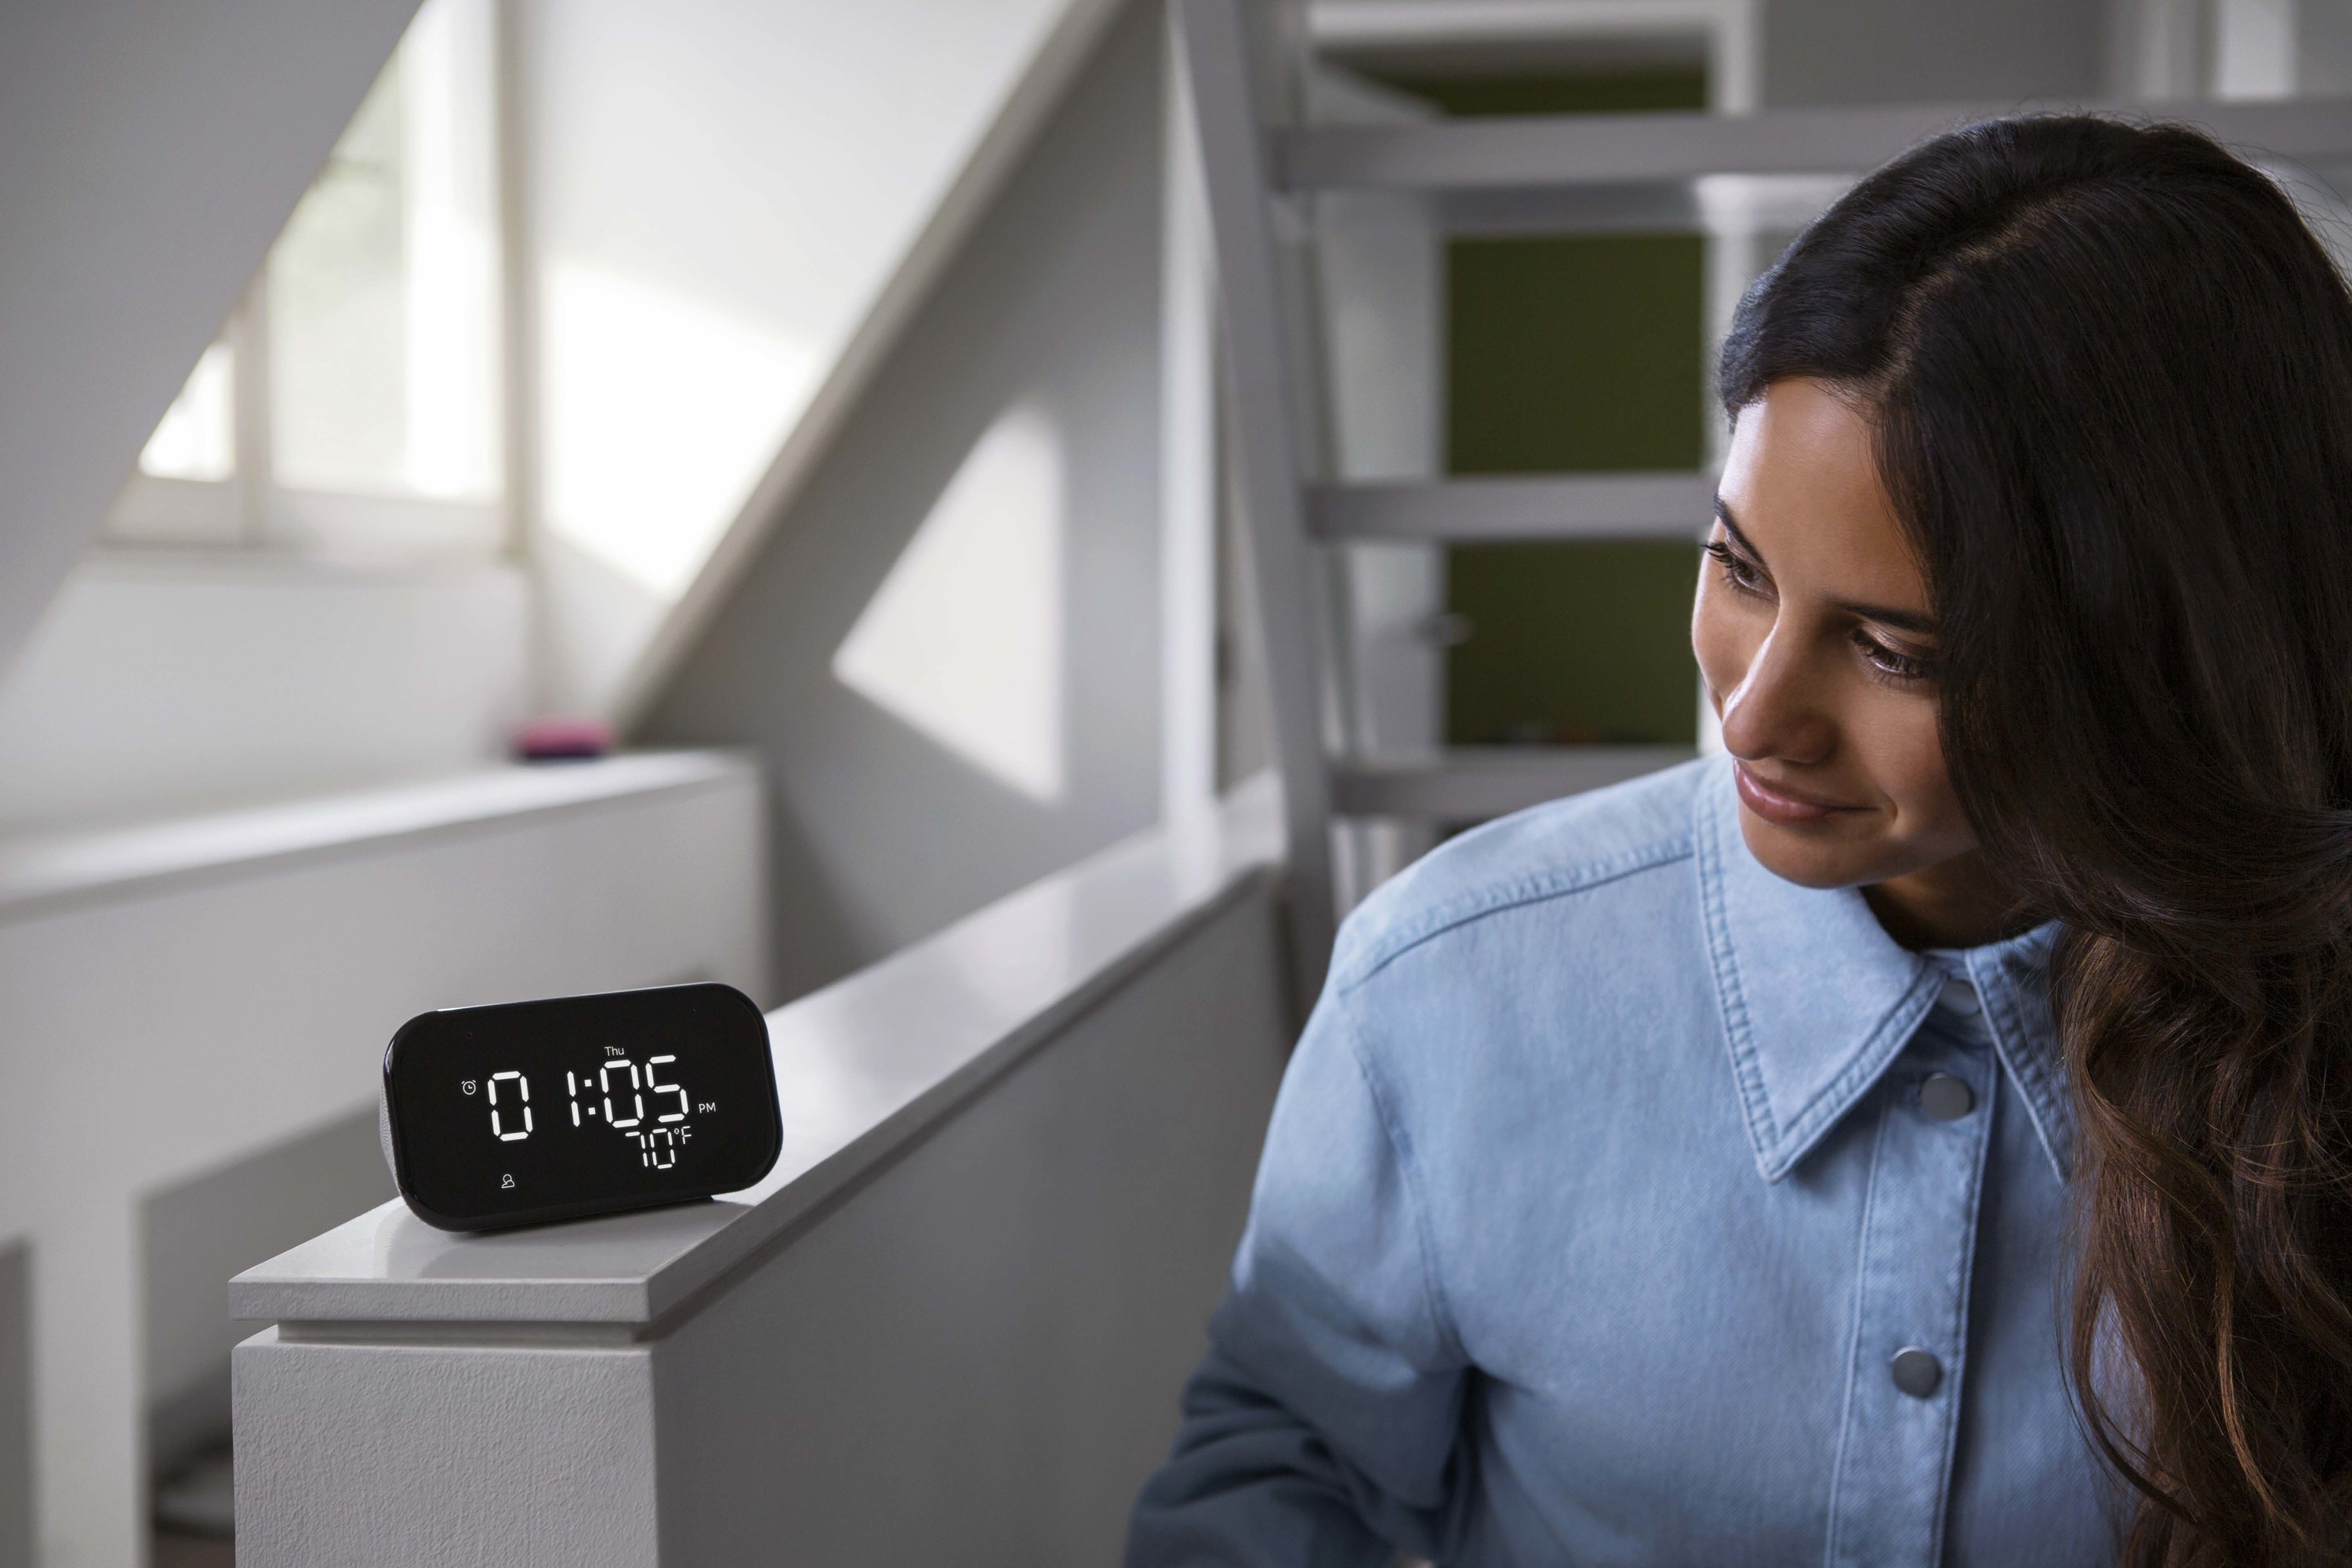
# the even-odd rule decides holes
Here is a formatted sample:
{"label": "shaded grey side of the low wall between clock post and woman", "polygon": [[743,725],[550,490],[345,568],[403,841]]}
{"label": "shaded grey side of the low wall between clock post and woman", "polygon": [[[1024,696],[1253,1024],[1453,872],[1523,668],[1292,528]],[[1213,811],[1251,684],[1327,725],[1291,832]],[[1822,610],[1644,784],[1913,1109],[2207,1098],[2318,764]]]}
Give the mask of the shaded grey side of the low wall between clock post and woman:
{"label": "shaded grey side of the low wall between clock post and woman", "polygon": [[1287,1051],[1261,889],[684,1321],[654,1352],[663,1561],[1117,1561]]}

